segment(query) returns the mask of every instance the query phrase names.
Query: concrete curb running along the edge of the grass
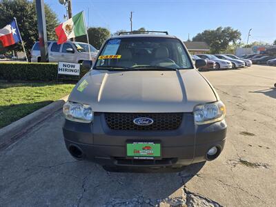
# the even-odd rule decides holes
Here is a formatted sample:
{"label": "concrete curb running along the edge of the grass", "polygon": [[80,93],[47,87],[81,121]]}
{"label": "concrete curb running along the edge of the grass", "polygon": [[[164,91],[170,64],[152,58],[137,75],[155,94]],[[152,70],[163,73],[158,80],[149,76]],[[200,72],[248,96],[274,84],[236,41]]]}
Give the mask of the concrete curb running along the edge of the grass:
{"label": "concrete curb running along the edge of the grass", "polygon": [[12,124],[0,129],[0,150],[7,148],[15,141],[20,139],[20,136],[25,134],[30,128],[33,128],[41,121],[47,119],[55,113],[57,110],[63,107],[63,104],[67,101],[69,95],[62,97],[61,99],[50,103],[39,110],[32,112],[30,115],[23,117]]}

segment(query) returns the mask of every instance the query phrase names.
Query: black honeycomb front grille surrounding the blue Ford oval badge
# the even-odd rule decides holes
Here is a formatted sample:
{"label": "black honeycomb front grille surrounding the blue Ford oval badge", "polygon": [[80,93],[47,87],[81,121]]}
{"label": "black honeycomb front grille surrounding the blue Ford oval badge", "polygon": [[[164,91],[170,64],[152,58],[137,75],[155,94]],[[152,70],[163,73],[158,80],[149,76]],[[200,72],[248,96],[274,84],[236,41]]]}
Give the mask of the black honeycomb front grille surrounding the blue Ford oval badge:
{"label": "black honeycomb front grille surrounding the blue Ford oval badge", "polygon": [[[153,120],[149,126],[139,126],[133,120],[147,117]],[[176,130],[183,113],[105,113],[106,123],[112,130]]]}

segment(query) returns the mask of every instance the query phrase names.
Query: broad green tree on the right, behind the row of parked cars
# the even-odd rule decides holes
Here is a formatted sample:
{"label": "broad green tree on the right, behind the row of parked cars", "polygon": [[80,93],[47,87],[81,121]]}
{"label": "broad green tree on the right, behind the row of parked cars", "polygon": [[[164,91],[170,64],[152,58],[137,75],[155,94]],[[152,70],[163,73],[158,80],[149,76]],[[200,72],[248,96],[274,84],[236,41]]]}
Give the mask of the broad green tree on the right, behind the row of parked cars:
{"label": "broad green tree on the right, behind the row of parked cars", "polygon": [[230,27],[219,27],[215,30],[204,30],[193,37],[193,41],[205,41],[210,46],[210,52],[219,53],[226,50],[229,43],[236,43],[241,39],[241,32]]}

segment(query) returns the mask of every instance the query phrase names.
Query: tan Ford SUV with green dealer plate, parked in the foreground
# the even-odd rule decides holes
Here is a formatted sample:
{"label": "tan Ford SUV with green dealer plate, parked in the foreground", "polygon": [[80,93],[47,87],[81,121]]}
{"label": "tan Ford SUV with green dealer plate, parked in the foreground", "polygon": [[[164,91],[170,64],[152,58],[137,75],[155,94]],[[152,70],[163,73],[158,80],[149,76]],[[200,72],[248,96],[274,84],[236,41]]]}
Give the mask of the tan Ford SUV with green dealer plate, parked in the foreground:
{"label": "tan Ford SUV with green dealer plate, parked in the foreground", "polygon": [[[83,62],[83,65],[86,65]],[[111,37],[63,106],[76,159],[106,167],[177,168],[219,156],[226,108],[177,37]]]}

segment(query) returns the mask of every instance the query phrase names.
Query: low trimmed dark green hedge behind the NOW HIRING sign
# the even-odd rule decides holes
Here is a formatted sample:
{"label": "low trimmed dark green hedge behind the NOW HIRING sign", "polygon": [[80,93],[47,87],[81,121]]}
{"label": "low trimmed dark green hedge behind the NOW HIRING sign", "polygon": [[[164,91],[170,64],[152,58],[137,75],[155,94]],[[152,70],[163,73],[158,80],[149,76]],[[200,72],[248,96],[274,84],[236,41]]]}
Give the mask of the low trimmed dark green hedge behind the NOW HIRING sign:
{"label": "low trimmed dark green hedge behind the NOW HIRING sign", "polygon": [[[81,77],[86,72],[88,70],[81,67]],[[70,77],[72,79],[72,76]],[[2,62],[0,63],[0,79],[8,81],[55,81],[57,79],[57,63]]]}

